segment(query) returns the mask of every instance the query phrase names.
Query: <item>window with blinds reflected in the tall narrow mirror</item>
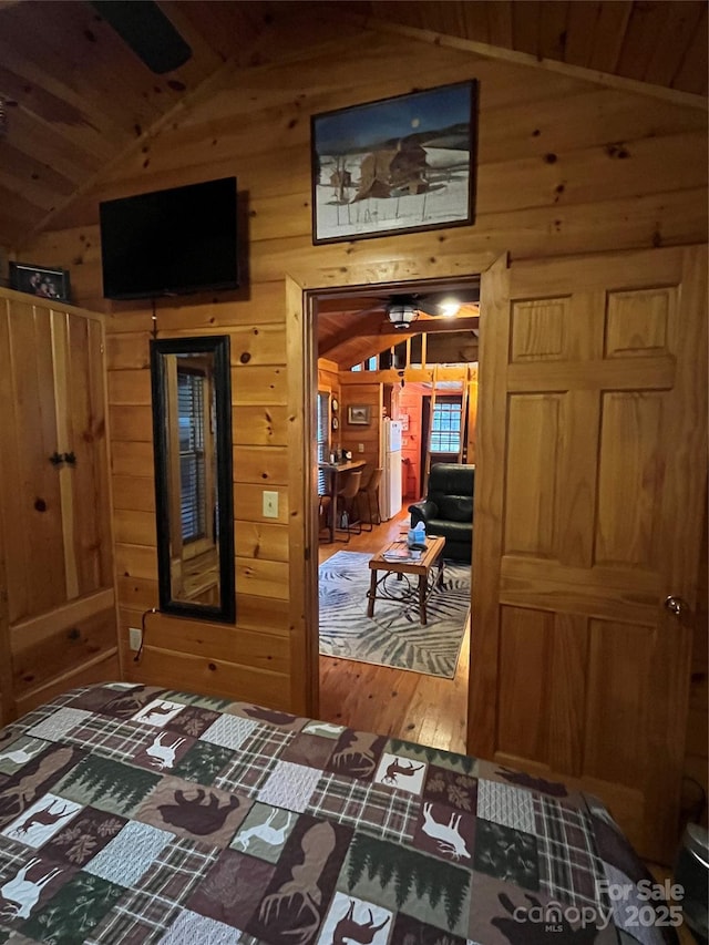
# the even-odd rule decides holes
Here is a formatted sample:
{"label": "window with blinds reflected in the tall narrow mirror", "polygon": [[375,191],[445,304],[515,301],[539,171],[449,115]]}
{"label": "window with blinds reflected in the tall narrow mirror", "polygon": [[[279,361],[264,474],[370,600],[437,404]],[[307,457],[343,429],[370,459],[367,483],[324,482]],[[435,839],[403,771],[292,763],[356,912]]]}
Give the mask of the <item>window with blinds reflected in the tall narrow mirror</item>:
{"label": "window with blinds reflected in the tall narrow mirror", "polygon": [[205,386],[202,372],[177,370],[179,491],[184,544],[207,533],[205,487]]}

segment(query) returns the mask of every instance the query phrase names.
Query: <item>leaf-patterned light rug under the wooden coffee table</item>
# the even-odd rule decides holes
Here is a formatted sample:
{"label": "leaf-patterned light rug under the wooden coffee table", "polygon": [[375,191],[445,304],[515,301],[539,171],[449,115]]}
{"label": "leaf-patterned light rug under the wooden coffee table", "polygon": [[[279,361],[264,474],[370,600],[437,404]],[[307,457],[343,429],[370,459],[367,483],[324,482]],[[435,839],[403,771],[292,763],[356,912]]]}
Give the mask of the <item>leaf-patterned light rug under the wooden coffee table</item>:
{"label": "leaf-patterned light rug under the wooden coffee table", "polygon": [[[470,565],[446,563],[445,587],[429,598],[423,627],[413,602],[377,599],[374,616],[367,616],[370,557],[337,552],[320,565],[321,655],[452,679],[470,610]],[[408,579],[415,590],[418,577]],[[387,586],[399,593],[405,582],[392,574]]]}

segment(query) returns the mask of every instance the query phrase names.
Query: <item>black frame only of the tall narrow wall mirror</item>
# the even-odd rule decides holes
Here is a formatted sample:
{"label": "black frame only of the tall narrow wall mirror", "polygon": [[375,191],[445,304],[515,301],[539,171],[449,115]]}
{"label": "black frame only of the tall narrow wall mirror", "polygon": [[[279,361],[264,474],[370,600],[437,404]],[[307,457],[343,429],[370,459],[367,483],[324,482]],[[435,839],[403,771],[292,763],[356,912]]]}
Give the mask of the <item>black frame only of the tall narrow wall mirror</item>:
{"label": "black frame only of the tall narrow wall mirror", "polygon": [[[174,600],[169,569],[169,503],[164,355],[214,355],[217,422],[217,492],[219,528],[219,606]],[[232,368],[229,336],[161,338],[151,341],[153,445],[155,450],[155,520],[160,609],[165,614],[224,624],[236,622],[234,577],[234,485],[232,472]]]}

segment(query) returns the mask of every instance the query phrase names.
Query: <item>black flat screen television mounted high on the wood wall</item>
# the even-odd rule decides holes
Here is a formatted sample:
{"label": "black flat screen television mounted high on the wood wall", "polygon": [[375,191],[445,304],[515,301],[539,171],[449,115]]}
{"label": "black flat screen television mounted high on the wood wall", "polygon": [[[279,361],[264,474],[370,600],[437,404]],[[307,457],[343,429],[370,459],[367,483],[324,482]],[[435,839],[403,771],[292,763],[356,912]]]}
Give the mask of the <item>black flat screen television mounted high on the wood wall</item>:
{"label": "black flat screen television mounted high on the wood wall", "polygon": [[104,297],[237,288],[236,193],[222,177],[101,203]]}

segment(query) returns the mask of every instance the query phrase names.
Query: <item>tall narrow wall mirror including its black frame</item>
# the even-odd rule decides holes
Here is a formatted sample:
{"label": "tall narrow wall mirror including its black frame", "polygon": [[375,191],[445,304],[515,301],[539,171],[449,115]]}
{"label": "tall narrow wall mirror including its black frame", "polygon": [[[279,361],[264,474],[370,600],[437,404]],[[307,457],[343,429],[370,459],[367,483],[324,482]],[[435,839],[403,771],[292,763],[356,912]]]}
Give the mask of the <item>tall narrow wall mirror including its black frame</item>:
{"label": "tall narrow wall mirror including its black frame", "polygon": [[151,342],[160,609],[234,623],[229,338]]}

